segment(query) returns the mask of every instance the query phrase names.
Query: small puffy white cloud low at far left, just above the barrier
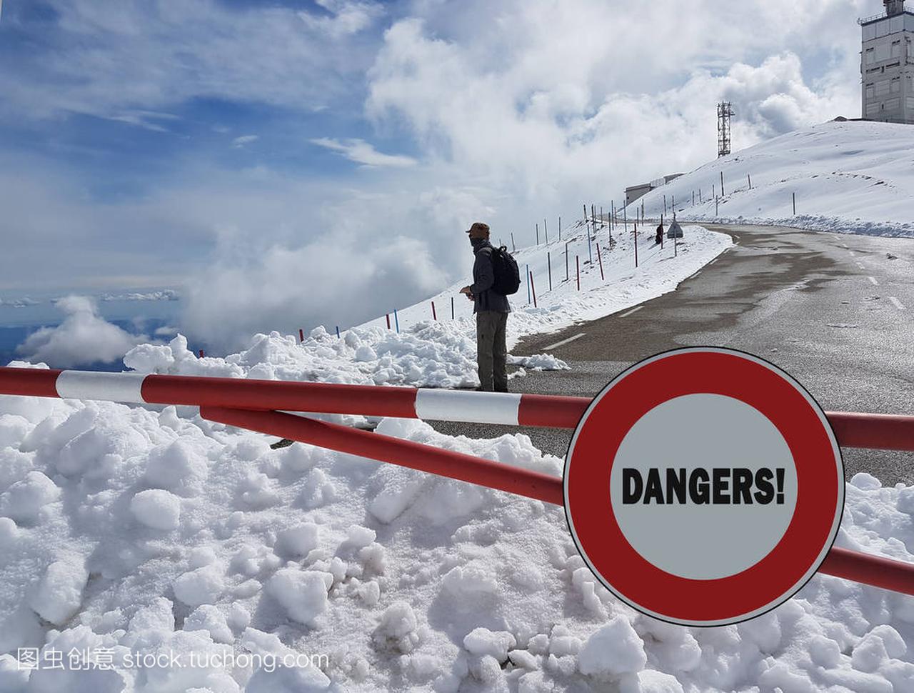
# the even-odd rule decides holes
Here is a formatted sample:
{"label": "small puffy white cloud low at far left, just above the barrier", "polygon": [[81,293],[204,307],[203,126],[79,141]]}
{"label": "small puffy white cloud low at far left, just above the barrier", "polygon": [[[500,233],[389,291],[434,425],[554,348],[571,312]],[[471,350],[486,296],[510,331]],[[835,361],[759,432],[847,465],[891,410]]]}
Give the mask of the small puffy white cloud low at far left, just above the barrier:
{"label": "small puffy white cloud low at far left, just above the barrier", "polygon": [[66,316],[63,322],[33,332],[16,347],[32,363],[47,363],[52,368],[112,363],[148,341],[146,336],[131,335],[106,321],[85,296],[67,296],[55,305]]}

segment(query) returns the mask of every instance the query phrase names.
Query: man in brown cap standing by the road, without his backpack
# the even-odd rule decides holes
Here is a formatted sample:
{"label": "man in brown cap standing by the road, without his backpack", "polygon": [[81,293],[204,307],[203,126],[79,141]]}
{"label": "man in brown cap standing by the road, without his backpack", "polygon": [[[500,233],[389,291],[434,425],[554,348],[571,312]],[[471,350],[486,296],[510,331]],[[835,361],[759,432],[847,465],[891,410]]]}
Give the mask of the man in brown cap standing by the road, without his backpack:
{"label": "man in brown cap standing by the road, without his backpack", "polygon": [[473,263],[473,283],[464,286],[461,293],[473,301],[476,314],[476,360],[479,368],[479,389],[488,392],[507,392],[508,350],[505,327],[511,306],[507,296],[494,290],[495,269],[489,243],[489,225],[477,221],[467,231],[476,261]]}

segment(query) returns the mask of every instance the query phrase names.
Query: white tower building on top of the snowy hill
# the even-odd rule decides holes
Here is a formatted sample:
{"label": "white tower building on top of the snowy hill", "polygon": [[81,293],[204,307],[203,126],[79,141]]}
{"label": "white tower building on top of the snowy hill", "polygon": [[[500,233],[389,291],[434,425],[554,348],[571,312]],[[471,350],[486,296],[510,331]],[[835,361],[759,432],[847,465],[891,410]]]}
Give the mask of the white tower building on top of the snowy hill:
{"label": "white tower building on top of the snowy hill", "polygon": [[914,124],[914,12],[905,0],[883,0],[886,14],[859,20],[863,118]]}

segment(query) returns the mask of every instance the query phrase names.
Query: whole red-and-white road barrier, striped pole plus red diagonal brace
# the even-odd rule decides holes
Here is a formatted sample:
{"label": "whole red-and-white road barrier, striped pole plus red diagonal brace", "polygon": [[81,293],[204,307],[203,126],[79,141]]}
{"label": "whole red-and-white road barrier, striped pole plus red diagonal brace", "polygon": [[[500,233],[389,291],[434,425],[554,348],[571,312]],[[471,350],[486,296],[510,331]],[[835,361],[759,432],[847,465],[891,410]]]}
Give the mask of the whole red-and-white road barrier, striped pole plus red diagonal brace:
{"label": "whole red-and-white road barrier, striped pole plus red diagonal brace", "polygon": [[[0,395],[200,406],[201,415],[293,441],[399,464],[561,506],[562,479],[276,410],[575,428],[587,398],[358,385],[0,368]],[[914,417],[829,413],[845,446],[914,451]],[[914,595],[914,565],[831,549],[820,572]]]}

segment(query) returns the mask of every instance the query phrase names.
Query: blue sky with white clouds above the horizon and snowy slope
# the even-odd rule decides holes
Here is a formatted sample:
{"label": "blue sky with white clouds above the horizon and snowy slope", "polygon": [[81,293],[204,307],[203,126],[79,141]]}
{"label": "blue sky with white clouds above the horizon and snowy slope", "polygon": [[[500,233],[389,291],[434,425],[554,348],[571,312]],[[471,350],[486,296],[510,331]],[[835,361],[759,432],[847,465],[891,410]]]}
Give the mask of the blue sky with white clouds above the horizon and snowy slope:
{"label": "blue sky with white clouds above the horizon and snowy slope", "polygon": [[876,0],[652,5],[5,0],[0,298],[174,286],[227,342],[351,324],[466,272],[474,219],[520,236],[701,165],[721,98],[738,146],[857,115]]}

